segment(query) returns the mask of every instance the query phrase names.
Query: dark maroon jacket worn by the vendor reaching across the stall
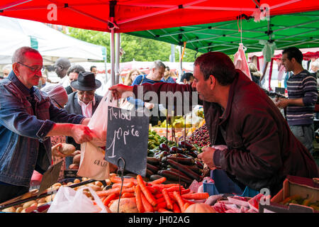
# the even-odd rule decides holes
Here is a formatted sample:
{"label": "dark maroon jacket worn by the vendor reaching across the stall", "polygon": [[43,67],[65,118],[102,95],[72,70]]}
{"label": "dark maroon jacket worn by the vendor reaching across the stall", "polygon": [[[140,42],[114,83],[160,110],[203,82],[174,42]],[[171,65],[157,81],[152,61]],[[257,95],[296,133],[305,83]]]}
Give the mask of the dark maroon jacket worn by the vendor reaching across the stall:
{"label": "dark maroon jacket worn by the vendor reaching across the stall", "polygon": [[[162,101],[160,92],[196,92],[184,84],[142,86],[144,94],[156,92],[159,101]],[[138,95],[138,86],[133,87],[133,92]],[[179,103],[184,101],[183,96]],[[198,101],[203,104],[211,145],[228,147],[223,151],[216,150],[213,161],[235,182],[255,190],[269,188],[274,195],[287,175],[318,177],[315,160],[291,133],[272,99],[240,70],[231,84],[225,111],[216,103]]]}

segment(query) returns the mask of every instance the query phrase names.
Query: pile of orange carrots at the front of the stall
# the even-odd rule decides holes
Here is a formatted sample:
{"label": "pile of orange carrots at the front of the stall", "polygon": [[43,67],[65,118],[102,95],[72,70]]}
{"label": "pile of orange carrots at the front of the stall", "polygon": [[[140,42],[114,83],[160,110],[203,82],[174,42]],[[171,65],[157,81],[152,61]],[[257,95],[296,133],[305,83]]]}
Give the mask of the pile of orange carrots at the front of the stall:
{"label": "pile of orange carrots at the front of the stall", "polygon": [[208,193],[194,193],[180,184],[163,184],[166,177],[145,182],[140,175],[135,178],[124,178],[121,192],[121,177],[112,176],[112,188],[97,191],[104,206],[110,207],[121,192],[121,198],[135,199],[138,212],[167,212],[183,213],[187,207],[194,204],[190,199],[207,199]]}

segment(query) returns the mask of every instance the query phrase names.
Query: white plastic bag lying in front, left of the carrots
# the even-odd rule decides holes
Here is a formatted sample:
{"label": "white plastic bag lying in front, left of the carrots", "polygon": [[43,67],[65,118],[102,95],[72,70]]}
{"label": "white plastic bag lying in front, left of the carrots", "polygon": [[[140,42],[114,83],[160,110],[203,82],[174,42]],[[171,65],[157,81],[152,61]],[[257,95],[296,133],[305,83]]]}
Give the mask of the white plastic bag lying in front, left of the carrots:
{"label": "white plastic bag lying in front, left of the carrots", "polygon": [[[96,205],[83,194],[84,189],[89,189]],[[111,213],[111,211],[103,205],[99,196],[90,187],[77,191],[70,187],[60,187],[47,213]]]}

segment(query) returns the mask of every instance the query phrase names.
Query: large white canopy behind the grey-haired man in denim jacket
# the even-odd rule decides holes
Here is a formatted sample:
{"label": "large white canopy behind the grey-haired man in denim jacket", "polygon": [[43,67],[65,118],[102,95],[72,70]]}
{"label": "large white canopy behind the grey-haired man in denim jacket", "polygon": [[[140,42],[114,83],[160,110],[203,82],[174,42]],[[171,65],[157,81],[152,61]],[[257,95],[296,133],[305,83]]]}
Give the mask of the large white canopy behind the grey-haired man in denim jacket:
{"label": "large white canopy behind the grey-haired man in denim jacket", "polygon": [[44,23],[0,16],[0,65],[11,64],[13,52],[30,46],[39,50],[44,65],[53,65],[57,58],[70,62],[99,61],[106,57],[106,48],[72,38]]}

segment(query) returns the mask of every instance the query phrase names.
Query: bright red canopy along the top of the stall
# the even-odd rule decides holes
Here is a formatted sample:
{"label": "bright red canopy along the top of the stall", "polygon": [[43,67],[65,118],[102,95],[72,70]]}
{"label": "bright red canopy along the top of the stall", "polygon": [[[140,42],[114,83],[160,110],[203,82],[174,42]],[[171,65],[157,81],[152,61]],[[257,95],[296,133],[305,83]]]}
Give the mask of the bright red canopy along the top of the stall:
{"label": "bright red canopy along the top of the stall", "polygon": [[[257,5],[258,4],[258,5]],[[263,5],[265,4],[265,5]],[[267,5],[268,4],[268,5]],[[116,33],[231,21],[266,6],[270,16],[319,10],[313,0],[1,0],[0,16]],[[114,28],[114,27],[113,27]]]}

